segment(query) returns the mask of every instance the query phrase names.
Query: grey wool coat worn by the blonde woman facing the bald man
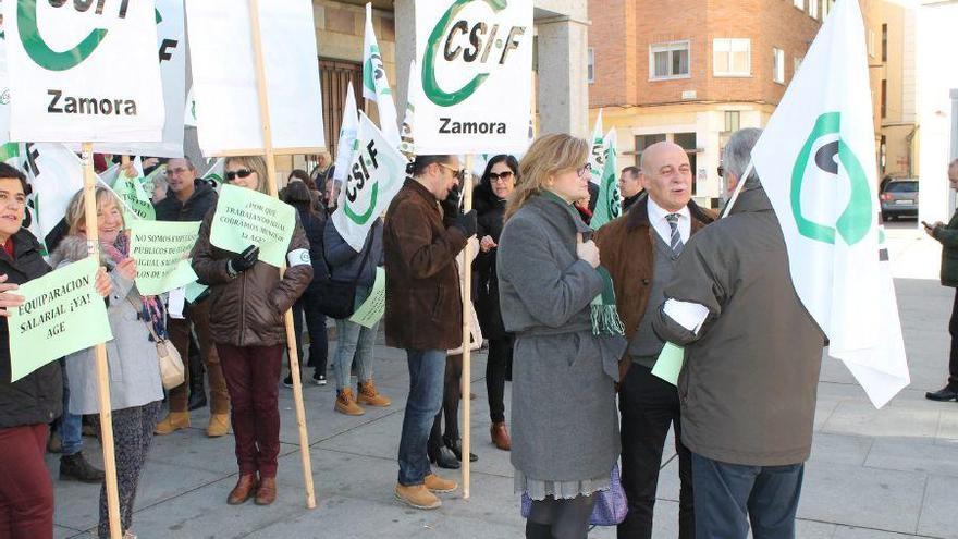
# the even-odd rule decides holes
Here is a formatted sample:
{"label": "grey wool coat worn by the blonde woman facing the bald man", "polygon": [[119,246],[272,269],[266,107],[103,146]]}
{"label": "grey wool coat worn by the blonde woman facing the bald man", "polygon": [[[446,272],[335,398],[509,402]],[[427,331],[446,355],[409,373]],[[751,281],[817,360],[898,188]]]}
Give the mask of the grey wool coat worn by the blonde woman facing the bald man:
{"label": "grey wool coat worn by the blonde woman facing the bald man", "polygon": [[540,481],[607,476],[619,453],[614,382],[627,343],[592,334],[603,281],[576,255],[589,228],[564,206],[530,198],[506,222],[496,258],[502,319],[516,334],[511,458]]}

